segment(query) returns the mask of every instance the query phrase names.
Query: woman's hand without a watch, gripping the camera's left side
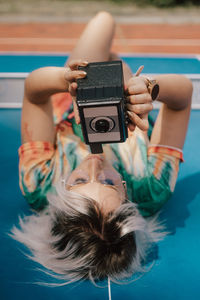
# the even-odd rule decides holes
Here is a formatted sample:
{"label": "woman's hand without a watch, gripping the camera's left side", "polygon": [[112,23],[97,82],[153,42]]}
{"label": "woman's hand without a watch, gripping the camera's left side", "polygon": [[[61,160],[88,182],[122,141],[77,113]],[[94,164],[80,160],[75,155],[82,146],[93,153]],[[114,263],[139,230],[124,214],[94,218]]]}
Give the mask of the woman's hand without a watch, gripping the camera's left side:
{"label": "woman's hand without a watch, gripping the camera's left side", "polygon": [[76,102],[76,89],[77,89],[77,79],[84,78],[87,73],[81,70],[78,70],[79,66],[85,67],[88,65],[87,61],[73,60],[70,61],[65,71],[65,80],[67,81],[69,87],[68,91],[72,96],[73,107],[74,107],[74,117],[77,124],[80,123],[80,117],[78,112],[78,106]]}

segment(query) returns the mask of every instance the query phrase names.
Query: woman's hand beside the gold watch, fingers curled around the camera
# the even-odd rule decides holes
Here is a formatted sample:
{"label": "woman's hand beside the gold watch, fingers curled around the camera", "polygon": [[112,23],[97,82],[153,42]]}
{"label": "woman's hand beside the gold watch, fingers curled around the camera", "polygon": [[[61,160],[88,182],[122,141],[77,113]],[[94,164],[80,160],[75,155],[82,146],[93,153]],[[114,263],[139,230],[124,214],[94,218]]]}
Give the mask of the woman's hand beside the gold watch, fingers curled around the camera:
{"label": "woman's hand beside the gold watch, fingers curled around the camera", "polygon": [[133,76],[129,79],[127,94],[127,112],[130,119],[128,128],[134,131],[138,126],[146,131],[149,128],[148,113],[153,109],[152,98],[147,89],[148,81],[145,77]]}

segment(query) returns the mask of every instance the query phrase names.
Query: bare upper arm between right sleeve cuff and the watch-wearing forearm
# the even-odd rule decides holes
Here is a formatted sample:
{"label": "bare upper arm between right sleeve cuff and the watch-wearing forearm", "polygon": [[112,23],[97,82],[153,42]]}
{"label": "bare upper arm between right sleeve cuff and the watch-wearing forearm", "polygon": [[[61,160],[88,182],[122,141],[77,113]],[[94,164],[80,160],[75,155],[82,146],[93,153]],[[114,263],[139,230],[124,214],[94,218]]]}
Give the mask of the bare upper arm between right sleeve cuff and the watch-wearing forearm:
{"label": "bare upper arm between right sleeve cuff and the watch-wearing forearm", "polygon": [[182,110],[172,110],[162,104],[158,113],[150,143],[182,149],[187,133],[191,103]]}

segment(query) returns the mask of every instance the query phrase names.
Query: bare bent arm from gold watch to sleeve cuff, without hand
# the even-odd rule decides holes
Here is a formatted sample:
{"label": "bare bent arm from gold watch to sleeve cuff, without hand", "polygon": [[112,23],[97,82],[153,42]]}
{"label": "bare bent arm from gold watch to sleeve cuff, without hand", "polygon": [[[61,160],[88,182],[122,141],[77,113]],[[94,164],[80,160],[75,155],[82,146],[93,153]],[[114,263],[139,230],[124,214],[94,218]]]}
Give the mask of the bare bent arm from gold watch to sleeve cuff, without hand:
{"label": "bare bent arm from gold watch to sleeve cuff, without hand", "polygon": [[163,103],[151,135],[151,144],[183,148],[190,118],[192,83],[182,75],[160,75],[158,100]]}

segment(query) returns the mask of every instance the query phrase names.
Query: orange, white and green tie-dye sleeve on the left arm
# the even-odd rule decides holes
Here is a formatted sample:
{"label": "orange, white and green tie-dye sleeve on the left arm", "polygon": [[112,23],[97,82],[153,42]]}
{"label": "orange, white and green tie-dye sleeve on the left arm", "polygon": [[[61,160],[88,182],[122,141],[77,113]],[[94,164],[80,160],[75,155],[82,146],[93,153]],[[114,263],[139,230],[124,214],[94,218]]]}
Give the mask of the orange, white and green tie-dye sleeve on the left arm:
{"label": "orange, white and green tie-dye sleeve on the left arm", "polygon": [[47,205],[46,194],[54,177],[55,149],[49,142],[29,142],[19,150],[20,189],[35,210]]}

